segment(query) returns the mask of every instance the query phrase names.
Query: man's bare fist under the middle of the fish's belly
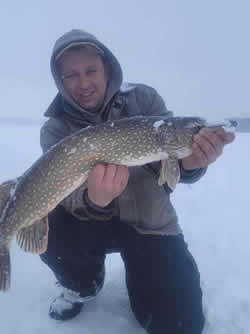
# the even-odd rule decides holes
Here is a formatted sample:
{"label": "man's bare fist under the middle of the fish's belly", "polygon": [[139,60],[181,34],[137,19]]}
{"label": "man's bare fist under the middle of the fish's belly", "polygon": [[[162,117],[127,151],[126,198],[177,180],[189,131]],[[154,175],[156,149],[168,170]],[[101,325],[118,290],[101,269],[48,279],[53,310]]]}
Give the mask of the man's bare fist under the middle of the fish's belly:
{"label": "man's bare fist under the middle of the fish's belly", "polygon": [[128,167],[96,165],[88,177],[88,197],[96,205],[105,207],[119,196],[128,184]]}

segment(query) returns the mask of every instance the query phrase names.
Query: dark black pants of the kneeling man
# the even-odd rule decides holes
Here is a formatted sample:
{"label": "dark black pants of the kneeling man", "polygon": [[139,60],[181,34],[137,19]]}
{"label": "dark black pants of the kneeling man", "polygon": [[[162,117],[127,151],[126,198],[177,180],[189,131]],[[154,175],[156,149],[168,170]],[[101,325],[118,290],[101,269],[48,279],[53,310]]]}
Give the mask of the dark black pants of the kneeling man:
{"label": "dark black pants of the kneeling man", "polygon": [[196,263],[183,236],[139,234],[119,218],[82,222],[58,206],[49,215],[42,260],[62,286],[94,296],[102,287],[105,255],[121,253],[132,310],[150,334],[200,334],[204,326]]}

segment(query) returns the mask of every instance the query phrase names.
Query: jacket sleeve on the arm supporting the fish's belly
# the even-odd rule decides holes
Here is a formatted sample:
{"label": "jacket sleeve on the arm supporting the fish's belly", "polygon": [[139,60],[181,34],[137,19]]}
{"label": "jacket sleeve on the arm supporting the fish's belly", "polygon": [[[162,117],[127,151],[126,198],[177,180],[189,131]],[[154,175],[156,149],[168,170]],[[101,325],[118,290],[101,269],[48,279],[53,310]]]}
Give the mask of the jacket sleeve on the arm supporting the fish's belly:
{"label": "jacket sleeve on the arm supporting the fish's belly", "polygon": [[[49,148],[69,135],[63,122],[49,119],[41,128],[40,145],[45,153]],[[61,203],[64,208],[79,220],[89,219],[108,220],[115,214],[115,202],[105,208],[98,207],[88,198],[87,183],[85,182]]]}

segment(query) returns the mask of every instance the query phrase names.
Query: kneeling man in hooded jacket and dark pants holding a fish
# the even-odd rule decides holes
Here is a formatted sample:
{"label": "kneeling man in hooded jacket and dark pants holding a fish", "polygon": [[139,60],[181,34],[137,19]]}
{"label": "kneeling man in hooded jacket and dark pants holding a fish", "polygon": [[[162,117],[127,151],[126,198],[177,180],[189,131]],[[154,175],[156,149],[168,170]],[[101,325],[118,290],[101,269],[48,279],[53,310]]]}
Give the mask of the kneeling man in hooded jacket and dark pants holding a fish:
{"label": "kneeling man in hooded jacket and dark pants holding a fish", "polygon": [[[51,70],[58,94],[45,116],[41,146],[89,125],[135,115],[172,116],[159,94],[122,84],[111,51],[89,33],[72,30],[55,44]],[[181,182],[197,181],[233,135],[201,131],[193,153],[179,162]],[[98,164],[87,183],[49,215],[49,244],[41,258],[62,292],[50,316],[66,320],[103,286],[105,256],[120,252],[132,310],[150,334],[198,334],[204,326],[196,263],[187,249],[167,185],[158,186],[159,163],[143,167]]]}

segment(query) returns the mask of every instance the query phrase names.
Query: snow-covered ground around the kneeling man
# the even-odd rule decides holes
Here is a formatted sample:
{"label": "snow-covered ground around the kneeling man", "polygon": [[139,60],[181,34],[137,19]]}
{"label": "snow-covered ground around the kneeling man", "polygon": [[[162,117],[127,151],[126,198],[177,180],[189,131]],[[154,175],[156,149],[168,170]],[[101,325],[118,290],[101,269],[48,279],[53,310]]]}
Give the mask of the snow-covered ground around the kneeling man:
{"label": "snow-covered ground around the kneeling man", "polygon": [[[24,172],[41,154],[39,126],[0,125],[0,181]],[[179,185],[173,202],[186,241],[199,265],[207,318],[205,334],[250,333],[250,134],[238,135],[198,183]],[[118,254],[107,258],[106,283],[80,316],[51,320],[58,293],[54,277],[38,256],[11,249],[12,288],[0,294],[5,334],[145,333],[129,306]]]}

